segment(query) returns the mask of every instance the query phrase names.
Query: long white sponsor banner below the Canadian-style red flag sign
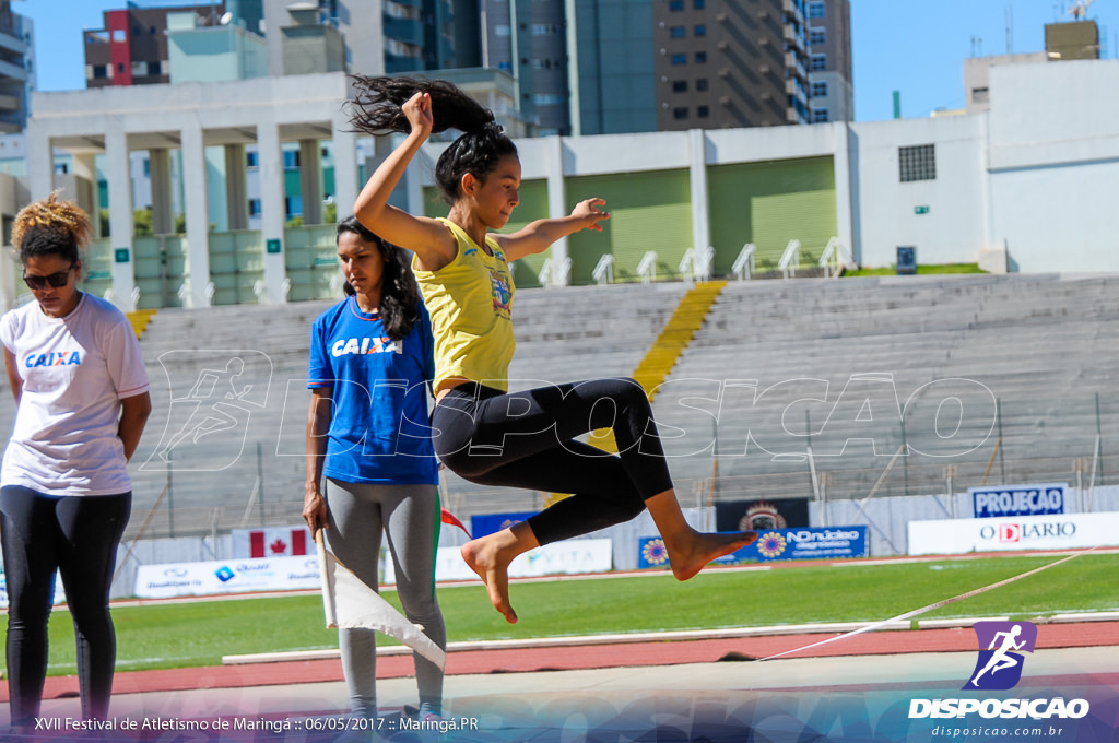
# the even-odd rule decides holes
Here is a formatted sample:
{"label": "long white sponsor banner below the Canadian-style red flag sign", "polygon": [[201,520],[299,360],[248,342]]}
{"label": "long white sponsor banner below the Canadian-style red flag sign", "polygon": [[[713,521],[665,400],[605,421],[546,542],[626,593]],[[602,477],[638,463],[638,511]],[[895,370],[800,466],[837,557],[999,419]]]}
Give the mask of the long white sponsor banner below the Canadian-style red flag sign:
{"label": "long white sponsor banner below the Canadian-style red flag sign", "polygon": [[135,595],[140,599],[205,596],[252,591],[319,589],[316,555],[264,559],[215,559],[205,563],[164,563],[137,568]]}

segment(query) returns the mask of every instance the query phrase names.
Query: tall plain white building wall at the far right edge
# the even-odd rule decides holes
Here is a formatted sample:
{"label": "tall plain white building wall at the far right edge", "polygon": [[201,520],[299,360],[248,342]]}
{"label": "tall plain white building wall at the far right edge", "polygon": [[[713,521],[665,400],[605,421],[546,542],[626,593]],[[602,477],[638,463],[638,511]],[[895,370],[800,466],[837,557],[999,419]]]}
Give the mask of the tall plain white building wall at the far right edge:
{"label": "tall plain white building wall at the far right edge", "polygon": [[1119,270],[1119,62],[991,69],[991,234],[1012,271]]}

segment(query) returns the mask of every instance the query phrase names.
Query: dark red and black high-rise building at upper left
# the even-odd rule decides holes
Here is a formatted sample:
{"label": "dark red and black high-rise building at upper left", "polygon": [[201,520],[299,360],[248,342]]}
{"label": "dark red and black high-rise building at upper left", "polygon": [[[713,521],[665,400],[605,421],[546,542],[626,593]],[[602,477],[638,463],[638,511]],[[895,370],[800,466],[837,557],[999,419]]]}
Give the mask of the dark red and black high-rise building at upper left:
{"label": "dark red and black high-rise building at upper left", "polygon": [[217,26],[225,3],[140,8],[130,2],[123,10],[105,11],[105,27],[84,34],[86,87],[171,82],[167,17],[184,12],[196,13],[199,26]]}

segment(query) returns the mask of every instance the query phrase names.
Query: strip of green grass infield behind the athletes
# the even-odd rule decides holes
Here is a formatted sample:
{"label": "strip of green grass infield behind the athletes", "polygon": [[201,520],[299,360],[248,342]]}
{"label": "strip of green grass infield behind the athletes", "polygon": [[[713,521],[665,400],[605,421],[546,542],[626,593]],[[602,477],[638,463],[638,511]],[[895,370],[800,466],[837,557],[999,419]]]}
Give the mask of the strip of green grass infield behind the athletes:
{"label": "strip of green grass infield behind the athletes", "polygon": [[[478,586],[439,591],[453,641],[614,632],[878,621],[1053,563],[1057,557],[793,566],[709,571],[687,583],[667,574],[516,583],[518,624],[507,624]],[[385,592],[396,603],[396,595]],[[1119,555],[1063,565],[920,617],[1010,615],[1119,609]],[[117,669],[219,665],[224,655],[337,647],[318,595],[196,601],[113,609]],[[384,643],[392,642],[379,638]],[[73,674],[74,636],[65,609],[50,623],[50,674]]]}

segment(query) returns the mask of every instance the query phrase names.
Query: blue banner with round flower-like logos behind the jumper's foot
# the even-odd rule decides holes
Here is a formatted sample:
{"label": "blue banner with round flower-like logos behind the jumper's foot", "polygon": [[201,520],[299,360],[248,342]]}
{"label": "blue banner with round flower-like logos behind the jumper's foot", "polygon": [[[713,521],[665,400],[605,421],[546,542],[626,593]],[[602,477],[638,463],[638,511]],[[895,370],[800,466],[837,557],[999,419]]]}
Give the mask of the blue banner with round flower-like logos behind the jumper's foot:
{"label": "blue banner with round flower-like logos behind the jumper's foot", "polygon": [[[836,559],[866,557],[866,527],[772,529],[737,552],[715,561],[718,565],[765,563],[779,559]],[[638,539],[638,567],[668,567],[660,537]]]}

